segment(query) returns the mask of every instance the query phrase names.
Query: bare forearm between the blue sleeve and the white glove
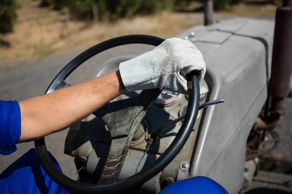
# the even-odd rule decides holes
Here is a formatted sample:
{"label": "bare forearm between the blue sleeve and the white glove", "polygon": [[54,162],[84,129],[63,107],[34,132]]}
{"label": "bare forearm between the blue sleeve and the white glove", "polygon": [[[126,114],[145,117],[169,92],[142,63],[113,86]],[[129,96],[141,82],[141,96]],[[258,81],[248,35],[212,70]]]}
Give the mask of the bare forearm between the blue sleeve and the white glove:
{"label": "bare forearm between the blue sleeve and the white glove", "polygon": [[21,135],[18,143],[66,129],[124,93],[126,90],[117,71],[20,101]]}

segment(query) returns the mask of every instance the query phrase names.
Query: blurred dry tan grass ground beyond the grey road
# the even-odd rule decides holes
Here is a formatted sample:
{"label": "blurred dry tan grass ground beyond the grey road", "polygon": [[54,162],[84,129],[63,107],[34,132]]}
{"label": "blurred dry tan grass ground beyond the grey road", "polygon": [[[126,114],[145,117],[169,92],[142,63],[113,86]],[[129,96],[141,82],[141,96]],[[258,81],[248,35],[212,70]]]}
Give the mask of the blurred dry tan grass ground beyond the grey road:
{"label": "blurred dry tan grass ground beyond the grey road", "polygon": [[[12,66],[24,61],[78,47],[93,46],[112,37],[126,34],[151,34],[167,37],[203,22],[201,4],[194,3],[183,12],[164,12],[154,16],[137,16],[115,22],[71,20],[66,27],[64,12],[39,8],[38,1],[19,0],[18,20],[12,33],[1,35],[9,48],[0,47],[0,66]],[[240,4],[225,12],[216,13],[216,19],[233,15],[273,16],[275,6]],[[70,30],[70,31],[69,31]]]}

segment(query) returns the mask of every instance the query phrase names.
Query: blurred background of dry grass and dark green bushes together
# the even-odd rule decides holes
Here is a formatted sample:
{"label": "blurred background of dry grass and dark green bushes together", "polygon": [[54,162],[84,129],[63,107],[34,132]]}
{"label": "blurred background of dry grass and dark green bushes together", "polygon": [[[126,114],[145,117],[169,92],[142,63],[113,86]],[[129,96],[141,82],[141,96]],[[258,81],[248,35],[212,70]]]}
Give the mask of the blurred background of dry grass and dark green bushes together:
{"label": "blurred background of dry grass and dark green bushes together", "polygon": [[[127,34],[169,37],[203,22],[203,0],[0,0],[0,67]],[[215,20],[274,17],[281,0],[214,0]]]}

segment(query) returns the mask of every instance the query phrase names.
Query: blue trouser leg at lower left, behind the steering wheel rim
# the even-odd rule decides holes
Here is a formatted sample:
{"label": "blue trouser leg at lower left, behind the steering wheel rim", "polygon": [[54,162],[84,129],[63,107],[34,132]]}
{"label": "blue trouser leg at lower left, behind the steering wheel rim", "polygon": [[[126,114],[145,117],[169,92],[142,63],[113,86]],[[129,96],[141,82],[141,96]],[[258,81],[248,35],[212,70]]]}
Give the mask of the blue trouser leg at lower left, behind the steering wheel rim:
{"label": "blue trouser leg at lower left, behind the steering wheel rim", "polygon": [[[48,152],[55,167],[61,168]],[[62,171],[61,171],[62,172]],[[35,149],[30,149],[0,174],[0,194],[70,194],[52,180],[37,159]]]}

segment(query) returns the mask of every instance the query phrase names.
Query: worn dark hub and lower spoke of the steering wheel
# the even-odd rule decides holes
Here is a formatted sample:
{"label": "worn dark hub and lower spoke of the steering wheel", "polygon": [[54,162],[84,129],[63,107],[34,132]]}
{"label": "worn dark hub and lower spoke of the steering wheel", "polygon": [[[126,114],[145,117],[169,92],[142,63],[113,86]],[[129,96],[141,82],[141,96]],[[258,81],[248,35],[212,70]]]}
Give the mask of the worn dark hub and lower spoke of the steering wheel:
{"label": "worn dark hub and lower spoke of the steering wheel", "polygon": [[110,184],[119,177],[132,137],[160,93],[144,90],[138,97],[111,102],[94,113],[106,123],[112,138],[98,184]]}

